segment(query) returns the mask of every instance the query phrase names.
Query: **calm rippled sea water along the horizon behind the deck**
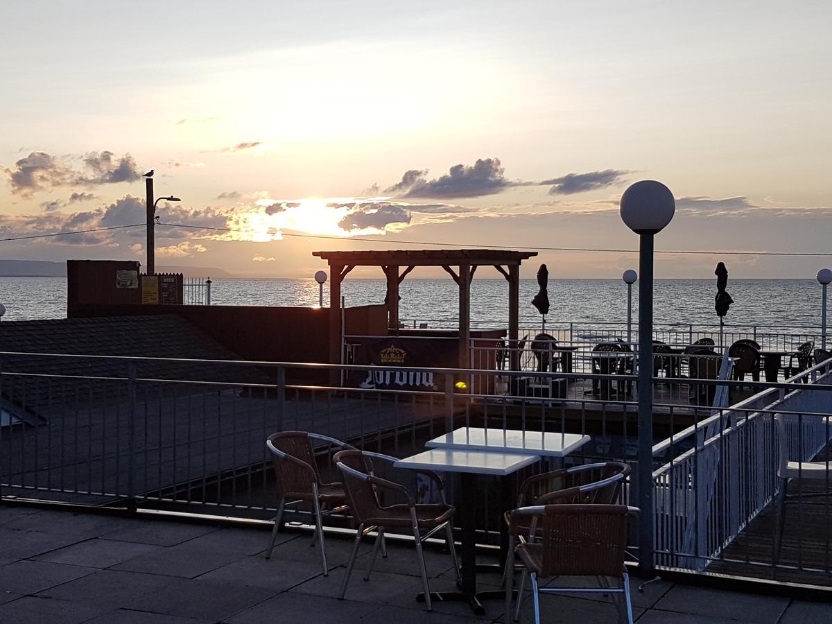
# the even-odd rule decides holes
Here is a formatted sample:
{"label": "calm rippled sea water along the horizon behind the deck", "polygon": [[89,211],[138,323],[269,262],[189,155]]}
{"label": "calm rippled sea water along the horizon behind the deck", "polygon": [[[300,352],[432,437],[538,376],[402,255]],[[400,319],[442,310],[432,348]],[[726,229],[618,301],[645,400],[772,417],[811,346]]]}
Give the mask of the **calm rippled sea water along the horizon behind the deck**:
{"label": "calm rippled sea water along the horizon behind the deck", "polygon": [[[621,280],[550,280],[547,316],[550,325],[563,322],[616,322],[626,320],[626,285]],[[815,280],[730,280],[734,298],[726,317],[730,325],[775,325],[783,328],[820,327],[821,290]],[[532,307],[536,280],[521,280],[520,319],[534,326],[540,314]],[[345,280],[347,305],[384,301],[384,280]],[[401,285],[400,318],[432,327],[453,325],[458,291],[453,280],[407,279]],[[718,324],[714,312],[716,280],[656,280],[656,323]],[[215,305],[317,305],[314,280],[214,280]],[[633,316],[637,305],[633,288]],[[49,277],[0,277],[0,303],[5,320],[60,319],[67,315],[67,280]],[[324,305],[329,305],[324,285]],[[505,280],[473,281],[471,318],[474,326],[505,324],[508,320],[508,285]]]}

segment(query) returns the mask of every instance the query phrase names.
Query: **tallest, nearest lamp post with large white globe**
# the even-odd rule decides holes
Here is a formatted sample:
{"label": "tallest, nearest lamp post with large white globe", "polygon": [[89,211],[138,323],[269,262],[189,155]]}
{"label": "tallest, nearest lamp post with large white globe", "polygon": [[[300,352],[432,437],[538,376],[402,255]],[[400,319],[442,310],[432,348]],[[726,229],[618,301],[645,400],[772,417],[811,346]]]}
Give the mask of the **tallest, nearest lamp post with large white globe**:
{"label": "tallest, nearest lamp post with large white globe", "polygon": [[653,569],[653,236],[671,222],[676,201],[670,189],[642,180],[624,191],[621,217],[639,235],[638,272],[638,558]]}

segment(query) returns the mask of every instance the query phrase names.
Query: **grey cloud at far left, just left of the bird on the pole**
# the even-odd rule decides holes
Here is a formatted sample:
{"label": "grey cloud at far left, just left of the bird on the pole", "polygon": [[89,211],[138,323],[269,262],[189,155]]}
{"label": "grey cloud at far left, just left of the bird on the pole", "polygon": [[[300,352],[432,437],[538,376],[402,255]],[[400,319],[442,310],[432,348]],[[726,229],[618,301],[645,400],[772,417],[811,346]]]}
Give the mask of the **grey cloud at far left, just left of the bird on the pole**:
{"label": "grey cloud at far left, just left of the bird on the pole", "polygon": [[101,186],[138,180],[141,175],[130,154],[115,157],[111,151],[91,151],[82,156],[80,169],[73,157],[58,158],[45,151],[32,151],[6,169],[12,193],[31,197],[58,186]]}

